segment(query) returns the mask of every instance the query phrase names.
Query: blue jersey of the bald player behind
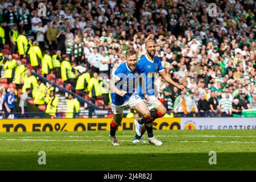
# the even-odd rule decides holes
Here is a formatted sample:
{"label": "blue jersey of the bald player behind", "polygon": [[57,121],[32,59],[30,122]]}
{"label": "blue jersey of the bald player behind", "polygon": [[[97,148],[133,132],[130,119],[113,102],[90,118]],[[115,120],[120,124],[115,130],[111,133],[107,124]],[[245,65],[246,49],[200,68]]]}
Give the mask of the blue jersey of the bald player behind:
{"label": "blue jersey of the bald player behind", "polygon": [[[159,57],[154,56],[154,61],[151,61],[145,55],[138,61],[137,66],[141,68],[141,72],[145,81],[148,96],[154,96],[155,76],[159,72],[164,71],[161,60],[159,59]],[[138,84],[137,92],[139,93],[139,96],[144,98],[142,88],[141,86],[139,86],[139,84]]]}

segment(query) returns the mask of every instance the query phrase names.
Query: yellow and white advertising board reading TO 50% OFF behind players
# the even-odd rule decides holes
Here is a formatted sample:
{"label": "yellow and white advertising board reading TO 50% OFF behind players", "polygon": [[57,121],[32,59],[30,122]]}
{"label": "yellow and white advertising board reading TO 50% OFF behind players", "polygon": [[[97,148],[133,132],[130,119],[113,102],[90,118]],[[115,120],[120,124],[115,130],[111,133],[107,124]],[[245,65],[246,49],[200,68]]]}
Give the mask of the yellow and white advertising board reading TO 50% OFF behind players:
{"label": "yellow and white advertising board reading TO 50% OFF behind players", "polygon": [[[2,119],[0,132],[109,131],[111,118]],[[256,129],[256,118],[159,118],[154,130]],[[118,130],[134,130],[134,118],[124,118]]]}

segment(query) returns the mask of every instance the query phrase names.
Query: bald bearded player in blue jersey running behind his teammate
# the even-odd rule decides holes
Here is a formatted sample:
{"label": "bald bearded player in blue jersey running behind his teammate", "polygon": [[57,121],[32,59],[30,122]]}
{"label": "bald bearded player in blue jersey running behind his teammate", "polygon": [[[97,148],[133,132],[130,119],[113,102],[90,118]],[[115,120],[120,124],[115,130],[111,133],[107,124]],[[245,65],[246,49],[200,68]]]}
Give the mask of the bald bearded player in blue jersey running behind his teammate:
{"label": "bald bearded player in blue jersey running behind his teammate", "polygon": [[[143,99],[145,104],[148,106],[148,109],[150,110],[151,117],[153,118],[152,121],[154,121],[156,118],[161,118],[166,114],[166,107],[154,96],[154,82],[155,82],[155,76],[160,73],[160,75],[164,78],[165,81],[167,81],[169,84],[174,85],[176,88],[183,90],[184,86],[179,85],[176,82],[174,82],[166,72],[164,71],[161,60],[155,56],[156,52],[156,45],[154,40],[150,39],[145,43],[145,49],[146,49],[146,55],[143,56],[138,61],[138,67],[142,68],[142,75],[144,77],[144,80],[146,81],[146,93],[143,94],[142,88],[138,88],[139,96]],[[154,110],[151,110],[154,109]],[[144,119],[135,119],[135,131],[136,135],[133,138],[133,142],[144,142],[141,137],[145,133],[145,129],[143,129],[143,121]],[[153,127],[151,123],[150,129],[147,129],[148,137],[154,137],[153,134]],[[159,141],[160,142],[160,141]],[[162,142],[161,142],[162,143]]]}

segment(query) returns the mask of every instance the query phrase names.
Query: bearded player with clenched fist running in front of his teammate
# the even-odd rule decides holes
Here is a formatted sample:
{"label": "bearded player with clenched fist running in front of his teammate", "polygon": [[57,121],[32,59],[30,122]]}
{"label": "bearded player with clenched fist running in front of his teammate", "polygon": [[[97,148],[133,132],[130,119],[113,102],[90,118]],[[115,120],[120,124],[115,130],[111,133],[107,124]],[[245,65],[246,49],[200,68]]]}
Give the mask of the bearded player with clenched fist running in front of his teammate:
{"label": "bearded player with clenched fist running in front of his teammate", "polygon": [[[125,53],[126,62],[119,65],[114,73],[113,78],[110,80],[111,90],[111,107],[114,114],[113,121],[110,123],[110,140],[114,146],[119,146],[118,140],[115,137],[117,127],[120,125],[123,118],[123,108],[129,106],[131,109],[137,110],[143,117],[143,123],[148,129],[148,123],[152,122],[150,111],[148,111],[146,104],[139,97],[135,91],[137,80],[141,74],[141,68],[137,67],[137,53],[134,50],[128,50]],[[144,90],[144,89],[143,89]],[[146,90],[144,94],[147,96]],[[155,137],[148,138],[150,143],[159,145]]]}

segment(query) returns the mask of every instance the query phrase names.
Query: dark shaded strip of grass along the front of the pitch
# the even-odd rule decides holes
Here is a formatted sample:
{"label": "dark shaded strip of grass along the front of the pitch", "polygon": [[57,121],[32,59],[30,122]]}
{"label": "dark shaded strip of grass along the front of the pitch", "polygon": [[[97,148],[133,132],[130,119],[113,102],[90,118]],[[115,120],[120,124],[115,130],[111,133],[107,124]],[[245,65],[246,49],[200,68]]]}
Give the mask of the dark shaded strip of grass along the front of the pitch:
{"label": "dark shaded strip of grass along the front of the pitch", "polygon": [[[132,145],[132,144],[131,144]],[[141,146],[143,147],[143,146]],[[158,146],[155,146],[158,147]],[[47,154],[46,165],[31,152],[0,155],[0,170],[256,170],[256,153],[217,153],[210,165],[208,153]]]}

